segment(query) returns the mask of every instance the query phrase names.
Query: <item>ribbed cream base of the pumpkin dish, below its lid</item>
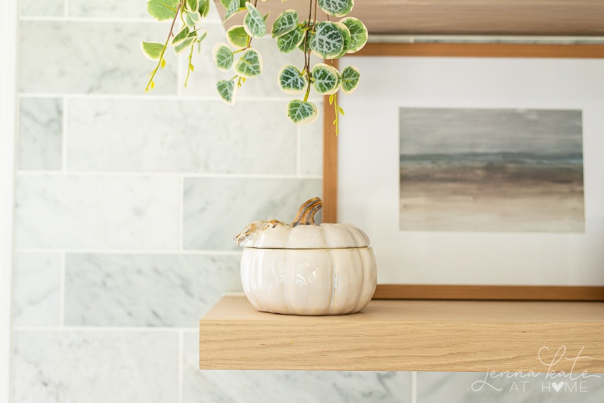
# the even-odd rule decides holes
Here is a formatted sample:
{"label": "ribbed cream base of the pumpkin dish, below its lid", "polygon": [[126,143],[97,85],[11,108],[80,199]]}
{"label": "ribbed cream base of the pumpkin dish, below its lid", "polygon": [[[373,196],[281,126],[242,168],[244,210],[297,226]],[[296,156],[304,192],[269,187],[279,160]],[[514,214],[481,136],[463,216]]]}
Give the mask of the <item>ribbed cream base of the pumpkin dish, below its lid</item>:
{"label": "ribbed cream base of the pumpkin dish, below its lid", "polygon": [[262,249],[246,247],[241,280],[259,311],[295,315],[355,313],[376,288],[371,247]]}

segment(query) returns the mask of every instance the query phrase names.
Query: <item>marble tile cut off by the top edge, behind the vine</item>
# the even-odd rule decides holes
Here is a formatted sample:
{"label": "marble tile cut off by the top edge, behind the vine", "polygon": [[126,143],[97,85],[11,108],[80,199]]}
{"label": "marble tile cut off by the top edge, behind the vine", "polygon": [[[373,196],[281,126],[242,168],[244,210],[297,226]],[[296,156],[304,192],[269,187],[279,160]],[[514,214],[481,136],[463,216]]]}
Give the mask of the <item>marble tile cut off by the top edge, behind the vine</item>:
{"label": "marble tile cut off by the top edge, behind the vine", "polygon": [[[147,13],[147,1],[102,1],[102,0],[68,0],[69,16],[74,17],[115,17],[115,18],[143,18],[155,21]],[[202,25],[207,22],[220,23],[220,16],[214,1],[210,1],[210,12]],[[178,27],[178,25],[177,25]],[[167,27],[165,33],[167,34]]]}

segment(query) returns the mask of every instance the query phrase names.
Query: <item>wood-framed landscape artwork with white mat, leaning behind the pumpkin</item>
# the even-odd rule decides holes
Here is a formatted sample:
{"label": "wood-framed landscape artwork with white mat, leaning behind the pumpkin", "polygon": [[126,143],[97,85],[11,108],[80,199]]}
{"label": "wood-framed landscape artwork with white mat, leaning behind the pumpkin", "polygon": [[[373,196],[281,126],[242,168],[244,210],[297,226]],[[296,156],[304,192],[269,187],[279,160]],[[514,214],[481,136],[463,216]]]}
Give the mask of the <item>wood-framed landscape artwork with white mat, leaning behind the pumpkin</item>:
{"label": "wood-framed landscape artwork with white mat, leaning behind the pumpkin", "polygon": [[325,221],[367,232],[375,297],[604,300],[604,45],[370,43]]}

